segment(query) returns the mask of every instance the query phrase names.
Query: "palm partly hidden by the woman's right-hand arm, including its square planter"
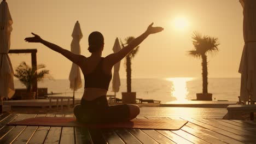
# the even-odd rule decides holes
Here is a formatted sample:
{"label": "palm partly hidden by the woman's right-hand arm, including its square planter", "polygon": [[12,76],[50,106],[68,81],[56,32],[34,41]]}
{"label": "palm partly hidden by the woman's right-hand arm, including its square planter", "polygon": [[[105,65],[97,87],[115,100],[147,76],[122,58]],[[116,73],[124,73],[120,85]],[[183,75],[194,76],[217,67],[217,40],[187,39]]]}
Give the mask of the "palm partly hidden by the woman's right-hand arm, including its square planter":
{"label": "palm partly hidden by the woman's right-hand arm, including its square planter", "polygon": [[[125,44],[122,47],[128,45],[135,37],[127,37],[125,39]],[[121,40],[120,40],[121,41]],[[136,92],[131,91],[131,59],[135,57],[138,52],[139,46],[135,47],[126,57],[125,57],[125,68],[126,68],[126,82],[127,82],[127,92],[122,92],[122,101],[124,104],[135,104],[136,103]]]}

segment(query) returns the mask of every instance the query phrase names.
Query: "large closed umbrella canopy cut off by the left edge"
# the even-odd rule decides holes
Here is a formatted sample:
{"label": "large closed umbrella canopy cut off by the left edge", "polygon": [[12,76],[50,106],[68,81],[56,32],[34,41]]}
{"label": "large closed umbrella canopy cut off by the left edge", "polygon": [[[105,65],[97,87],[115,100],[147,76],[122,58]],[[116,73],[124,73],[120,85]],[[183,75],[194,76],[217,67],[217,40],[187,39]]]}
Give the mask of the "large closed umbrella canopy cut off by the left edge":
{"label": "large closed umbrella canopy cut off by the left edge", "polygon": [[0,4],[0,97],[11,98],[15,92],[13,67],[8,52],[10,50],[10,34],[13,28],[8,4]]}

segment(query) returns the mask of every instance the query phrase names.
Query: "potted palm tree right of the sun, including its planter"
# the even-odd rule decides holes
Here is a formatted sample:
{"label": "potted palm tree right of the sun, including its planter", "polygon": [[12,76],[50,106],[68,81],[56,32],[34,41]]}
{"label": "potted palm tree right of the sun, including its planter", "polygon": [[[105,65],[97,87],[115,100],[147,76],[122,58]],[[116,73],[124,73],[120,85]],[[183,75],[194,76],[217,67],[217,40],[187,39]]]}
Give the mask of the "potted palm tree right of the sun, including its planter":
{"label": "potted palm tree right of the sun, including its planter", "polygon": [[192,35],[194,49],[189,51],[189,55],[202,58],[202,93],[196,94],[196,100],[212,100],[212,93],[208,93],[208,68],[207,54],[216,55],[219,51],[218,38],[202,36],[198,32]]}

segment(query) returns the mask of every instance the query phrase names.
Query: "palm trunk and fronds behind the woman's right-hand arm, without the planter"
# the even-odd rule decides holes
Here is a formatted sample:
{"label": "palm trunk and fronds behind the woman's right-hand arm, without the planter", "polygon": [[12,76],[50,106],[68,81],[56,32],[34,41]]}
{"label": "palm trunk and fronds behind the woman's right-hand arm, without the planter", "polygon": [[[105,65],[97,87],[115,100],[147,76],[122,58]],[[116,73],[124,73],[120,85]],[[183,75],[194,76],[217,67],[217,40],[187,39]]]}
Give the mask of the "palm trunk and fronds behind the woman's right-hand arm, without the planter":
{"label": "palm trunk and fronds behind the woman's right-hand arm, without the planter", "polygon": [[[135,37],[127,37],[125,39],[125,44],[123,44],[123,42],[121,41],[121,44],[123,47],[125,47],[125,45],[128,45],[129,43],[131,43],[132,40],[134,40]],[[135,47],[135,49],[133,49],[126,57],[125,57],[125,65],[126,65],[126,82],[127,82],[127,92],[131,92],[131,59],[135,57],[135,55],[138,52],[138,48],[139,46]]]}

